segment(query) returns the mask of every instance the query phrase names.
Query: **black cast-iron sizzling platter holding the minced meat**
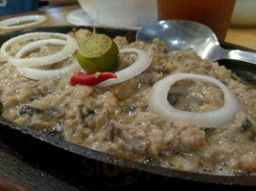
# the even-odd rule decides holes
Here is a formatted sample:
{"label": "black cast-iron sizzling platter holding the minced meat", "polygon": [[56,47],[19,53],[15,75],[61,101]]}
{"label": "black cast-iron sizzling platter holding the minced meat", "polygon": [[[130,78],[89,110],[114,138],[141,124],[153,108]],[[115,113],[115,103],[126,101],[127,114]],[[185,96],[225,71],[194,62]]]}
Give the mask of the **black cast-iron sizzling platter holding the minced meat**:
{"label": "black cast-iron sizzling platter holding the minced meat", "polygon": [[[74,27],[74,26],[59,26],[59,27],[43,27],[34,28],[29,30],[9,32],[0,35],[0,46],[8,39],[26,33],[26,32],[71,32],[74,29],[89,29],[90,27]],[[108,29],[108,28],[97,28],[98,33],[105,33],[111,37],[116,35],[127,36],[128,41],[132,42],[135,40],[136,31],[126,30],[126,29]],[[232,45],[229,43],[221,42],[221,46],[226,49],[239,49],[243,51],[253,52],[252,50],[245,49],[240,46]],[[254,87],[256,86],[256,67],[255,65],[246,64],[240,61],[231,60],[221,60],[221,64],[224,64],[227,68],[231,69],[234,73],[238,74],[244,79],[245,83],[250,83]],[[71,144],[64,140],[56,138],[55,135],[45,135],[39,132],[35,132],[30,128],[20,126],[12,121],[6,120],[0,117],[0,138],[7,141],[8,144],[12,145],[14,149],[25,153],[24,155],[30,154],[35,155],[33,159],[37,159],[37,155],[52,155],[51,157],[54,162],[55,159],[61,158],[71,159],[74,163],[72,164],[74,169],[81,168],[80,173],[74,173],[77,179],[81,179],[81,176],[94,177],[94,176],[105,176],[105,182],[109,185],[124,185],[125,182],[131,180],[129,183],[139,182],[139,181],[169,181],[169,182],[179,182],[183,184],[188,183],[200,183],[201,185],[216,185],[216,186],[226,186],[233,185],[236,187],[247,187],[256,186],[255,176],[214,176],[205,175],[198,173],[189,173],[183,171],[177,171],[173,169],[166,169],[162,167],[157,167],[149,164],[133,162],[128,159],[119,159],[104,153],[93,151],[78,145]],[[39,148],[39,149],[38,149]],[[50,152],[50,154],[49,154]],[[43,156],[42,155],[42,156]],[[40,159],[39,159],[40,160]],[[50,161],[51,162],[51,161]],[[88,173],[88,162],[89,166],[93,170]],[[61,163],[61,162],[59,162]],[[59,164],[60,165],[60,164]],[[99,167],[100,166],[100,167]],[[118,176],[112,176],[112,174],[105,173],[105,167],[116,168],[118,167],[120,174]],[[65,168],[59,167],[61,173],[66,175],[63,170]],[[84,168],[84,170],[82,170]],[[98,170],[95,169],[99,168]],[[71,172],[74,169],[67,167],[68,171]],[[121,169],[121,170],[120,170]],[[127,169],[127,170],[122,170]],[[96,172],[97,171],[97,172]],[[81,173],[82,172],[82,173]],[[85,173],[84,173],[85,172]],[[107,171],[108,172],[108,171]],[[110,171],[109,171],[110,172]],[[146,177],[145,177],[146,176]],[[124,178],[125,177],[125,178]],[[157,179],[155,178],[157,177]],[[75,179],[75,178],[74,178]],[[75,180],[76,181],[76,180]],[[128,183],[128,182],[127,182]]]}

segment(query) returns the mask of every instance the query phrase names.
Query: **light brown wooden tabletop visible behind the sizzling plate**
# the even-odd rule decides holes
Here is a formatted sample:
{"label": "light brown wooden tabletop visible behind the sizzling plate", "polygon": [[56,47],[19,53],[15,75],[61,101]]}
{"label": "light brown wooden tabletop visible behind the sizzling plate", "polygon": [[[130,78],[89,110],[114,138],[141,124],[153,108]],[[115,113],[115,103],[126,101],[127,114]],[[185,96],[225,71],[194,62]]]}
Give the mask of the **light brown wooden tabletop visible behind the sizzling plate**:
{"label": "light brown wooden tabletop visible behind the sizzling plate", "polygon": [[[51,8],[45,11],[34,11],[29,13],[23,13],[18,15],[24,15],[24,14],[44,14],[47,16],[47,21],[44,23],[41,23],[39,26],[58,26],[58,25],[71,25],[67,22],[66,16],[69,12],[75,11],[79,9],[80,6],[68,6],[68,7],[62,7],[62,8]],[[0,20],[10,18],[17,15],[12,16],[2,16],[0,17]],[[38,27],[35,26],[35,27]],[[0,33],[5,33],[7,31],[0,30]],[[256,27],[254,28],[232,28],[230,27],[226,38],[226,42],[237,44],[240,46],[244,46],[249,49],[253,49],[256,51]]]}

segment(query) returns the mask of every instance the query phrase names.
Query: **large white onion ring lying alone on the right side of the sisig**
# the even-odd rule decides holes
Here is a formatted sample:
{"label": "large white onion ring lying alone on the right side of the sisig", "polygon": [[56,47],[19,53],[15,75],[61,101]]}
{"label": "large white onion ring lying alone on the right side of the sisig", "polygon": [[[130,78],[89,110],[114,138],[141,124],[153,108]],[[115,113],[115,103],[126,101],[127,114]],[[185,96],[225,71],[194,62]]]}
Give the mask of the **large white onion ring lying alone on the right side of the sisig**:
{"label": "large white onion ring lying alone on the right side of the sisig", "polygon": [[[221,88],[224,104],[217,110],[205,113],[193,113],[176,110],[167,100],[171,86],[181,79],[198,79],[211,82]],[[219,127],[229,122],[239,111],[240,106],[236,96],[219,80],[198,74],[173,74],[156,82],[149,98],[153,112],[170,121],[184,121],[200,127]]]}

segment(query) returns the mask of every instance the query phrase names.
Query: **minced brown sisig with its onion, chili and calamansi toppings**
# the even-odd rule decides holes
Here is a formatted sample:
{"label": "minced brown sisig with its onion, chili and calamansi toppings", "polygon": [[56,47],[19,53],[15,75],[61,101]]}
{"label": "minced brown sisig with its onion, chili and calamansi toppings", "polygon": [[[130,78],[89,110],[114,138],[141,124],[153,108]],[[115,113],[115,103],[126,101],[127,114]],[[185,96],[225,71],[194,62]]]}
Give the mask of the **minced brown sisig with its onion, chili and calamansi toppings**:
{"label": "minced brown sisig with its onion, chili and calamansi toppings", "polygon": [[255,88],[191,49],[95,35],[32,32],[5,42],[2,117],[149,165],[256,175]]}

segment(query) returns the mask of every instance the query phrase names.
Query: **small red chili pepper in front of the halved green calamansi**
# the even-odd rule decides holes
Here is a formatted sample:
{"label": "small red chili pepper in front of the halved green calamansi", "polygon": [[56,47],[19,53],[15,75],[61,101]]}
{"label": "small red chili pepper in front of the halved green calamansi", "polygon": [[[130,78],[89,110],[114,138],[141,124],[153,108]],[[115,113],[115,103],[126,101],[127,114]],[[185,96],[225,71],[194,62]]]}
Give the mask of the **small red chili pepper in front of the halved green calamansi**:
{"label": "small red chili pepper in front of the halved green calamansi", "polygon": [[83,74],[81,72],[74,74],[70,78],[70,85],[76,86],[77,84],[94,86],[98,83],[101,83],[109,78],[117,78],[116,74],[105,72],[105,73],[95,73],[95,74]]}

